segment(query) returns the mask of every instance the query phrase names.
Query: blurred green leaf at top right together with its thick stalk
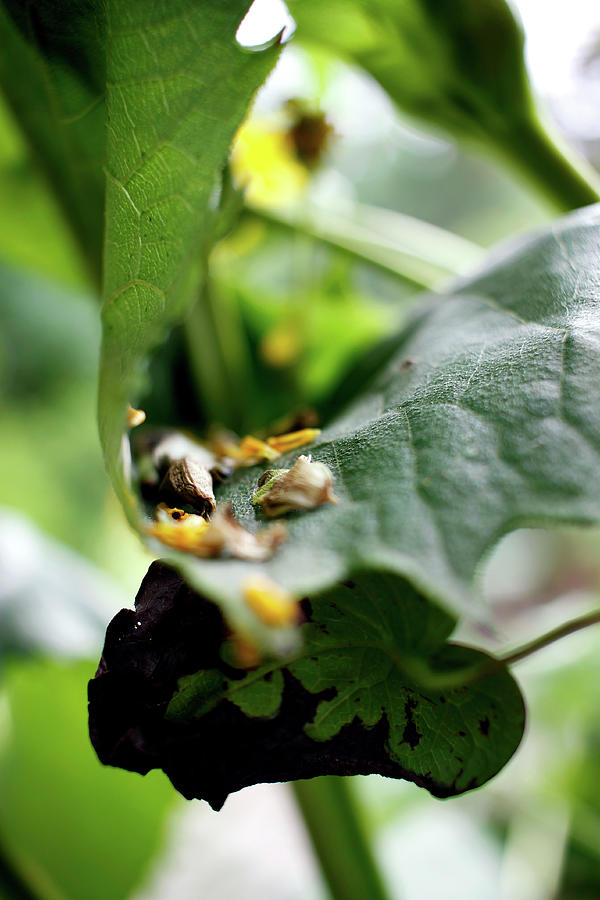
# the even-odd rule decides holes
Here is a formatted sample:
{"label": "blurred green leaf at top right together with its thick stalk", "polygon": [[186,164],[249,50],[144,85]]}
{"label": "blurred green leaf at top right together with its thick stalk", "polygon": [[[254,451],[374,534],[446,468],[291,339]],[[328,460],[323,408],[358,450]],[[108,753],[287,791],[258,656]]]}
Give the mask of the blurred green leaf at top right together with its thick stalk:
{"label": "blurred green leaf at top right together with its thick stalk", "polygon": [[369,72],[410,115],[487,146],[559,208],[598,199],[590,166],[574,166],[541,125],[523,34],[505,0],[297,0],[298,37]]}

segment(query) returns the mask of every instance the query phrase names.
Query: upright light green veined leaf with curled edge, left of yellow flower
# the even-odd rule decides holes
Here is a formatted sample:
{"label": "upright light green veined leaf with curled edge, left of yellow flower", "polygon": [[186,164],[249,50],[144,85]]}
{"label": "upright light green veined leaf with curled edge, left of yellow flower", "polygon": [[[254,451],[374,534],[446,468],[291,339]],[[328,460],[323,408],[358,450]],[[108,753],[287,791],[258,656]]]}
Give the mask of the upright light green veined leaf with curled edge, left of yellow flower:
{"label": "upright light green veined leaf with curled edge, left of yellow flower", "polygon": [[218,175],[278,48],[243,51],[247,0],[108,5],[106,241],[100,432],[131,518],[120,460],[145,357],[198,299]]}

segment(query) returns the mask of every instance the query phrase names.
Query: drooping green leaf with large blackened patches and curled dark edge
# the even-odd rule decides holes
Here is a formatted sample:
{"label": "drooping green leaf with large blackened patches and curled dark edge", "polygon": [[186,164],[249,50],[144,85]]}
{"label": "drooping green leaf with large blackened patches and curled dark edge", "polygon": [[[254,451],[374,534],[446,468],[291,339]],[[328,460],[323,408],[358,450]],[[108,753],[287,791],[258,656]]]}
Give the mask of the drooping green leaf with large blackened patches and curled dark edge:
{"label": "drooping green leaf with large blackened patches and curled dark edge", "polygon": [[452,619],[403,579],[358,575],[303,611],[297,653],[235,669],[216,607],[154,564],[135,612],[109,626],[90,683],[102,761],[161,767],[184,796],[219,808],[250,784],[325,774],[377,772],[447,797],[487,781],[516,750],[524,708],[512,677],[447,643]]}

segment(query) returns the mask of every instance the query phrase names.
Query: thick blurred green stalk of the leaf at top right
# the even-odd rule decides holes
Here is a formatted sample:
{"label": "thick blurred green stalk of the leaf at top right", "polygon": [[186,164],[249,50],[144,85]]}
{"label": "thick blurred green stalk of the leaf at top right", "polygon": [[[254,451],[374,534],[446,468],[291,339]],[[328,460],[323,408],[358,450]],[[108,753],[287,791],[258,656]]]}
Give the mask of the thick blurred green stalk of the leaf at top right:
{"label": "thick blurred green stalk of the leaf at top right", "polygon": [[503,156],[561,212],[600,200],[600,176],[534,113],[502,141]]}

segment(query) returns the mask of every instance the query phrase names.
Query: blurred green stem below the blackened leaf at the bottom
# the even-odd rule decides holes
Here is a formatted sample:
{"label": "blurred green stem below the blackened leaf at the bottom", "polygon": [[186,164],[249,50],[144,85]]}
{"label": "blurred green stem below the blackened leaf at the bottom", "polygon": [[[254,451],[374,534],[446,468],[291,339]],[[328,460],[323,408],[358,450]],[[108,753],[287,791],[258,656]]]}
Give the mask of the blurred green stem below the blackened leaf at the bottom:
{"label": "blurred green stem below the blackened leaf at the bottom", "polygon": [[389,900],[347,779],[295,781],[292,789],[333,900]]}

